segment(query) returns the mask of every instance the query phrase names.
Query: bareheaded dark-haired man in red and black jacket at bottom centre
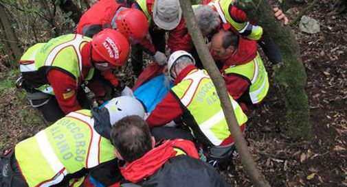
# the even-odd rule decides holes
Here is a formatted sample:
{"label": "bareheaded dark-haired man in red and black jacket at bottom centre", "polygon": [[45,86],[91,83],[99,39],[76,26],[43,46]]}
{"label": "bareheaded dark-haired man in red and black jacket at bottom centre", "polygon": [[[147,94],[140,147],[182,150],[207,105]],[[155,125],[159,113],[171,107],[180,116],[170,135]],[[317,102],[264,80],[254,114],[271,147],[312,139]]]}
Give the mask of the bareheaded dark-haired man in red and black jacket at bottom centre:
{"label": "bareheaded dark-haired man in red and black jacket at bottom centre", "polygon": [[199,160],[194,144],[188,140],[168,140],[155,146],[144,119],[127,116],[111,129],[120,168],[121,186],[204,187],[230,186],[211,166]]}

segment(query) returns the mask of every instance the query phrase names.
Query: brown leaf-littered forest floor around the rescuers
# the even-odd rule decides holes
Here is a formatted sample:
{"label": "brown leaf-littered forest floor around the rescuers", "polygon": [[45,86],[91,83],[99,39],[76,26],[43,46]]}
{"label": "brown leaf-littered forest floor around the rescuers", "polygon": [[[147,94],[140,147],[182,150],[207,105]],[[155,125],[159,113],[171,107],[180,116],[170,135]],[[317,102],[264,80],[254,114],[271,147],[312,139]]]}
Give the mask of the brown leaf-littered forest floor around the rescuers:
{"label": "brown leaf-littered forest floor around the rescuers", "polygon": [[[294,14],[302,7],[295,5]],[[249,118],[249,149],[273,187],[347,186],[347,19],[328,16],[331,11],[331,1],[323,0],[306,14],[320,22],[318,34],[302,34],[298,24],[293,27],[308,77],[311,140],[289,138],[284,103],[273,79],[265,104]],[[271,76],[269,63],[267,68]],[[0,64],[0,149],[13,147],[48,125],[32,110],[25,93],[13,88],[16,73]],[[239,159],[233,162],[234,171],[222,172],[228,182],[252,186]]]}

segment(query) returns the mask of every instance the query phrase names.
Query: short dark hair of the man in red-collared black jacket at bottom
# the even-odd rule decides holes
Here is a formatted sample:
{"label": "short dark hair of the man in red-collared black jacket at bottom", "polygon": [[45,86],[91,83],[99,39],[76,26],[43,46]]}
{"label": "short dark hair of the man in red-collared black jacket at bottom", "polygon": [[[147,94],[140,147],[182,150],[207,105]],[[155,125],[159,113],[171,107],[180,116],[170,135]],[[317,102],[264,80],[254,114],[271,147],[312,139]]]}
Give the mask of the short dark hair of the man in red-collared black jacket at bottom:
{"label": "short dark hair of the man in red-collared black jacket at bottom", "polygon": [[152,149],[150,129],[139,116],[126,116],[111,129],[111,141],[126,162],[141,158]]}

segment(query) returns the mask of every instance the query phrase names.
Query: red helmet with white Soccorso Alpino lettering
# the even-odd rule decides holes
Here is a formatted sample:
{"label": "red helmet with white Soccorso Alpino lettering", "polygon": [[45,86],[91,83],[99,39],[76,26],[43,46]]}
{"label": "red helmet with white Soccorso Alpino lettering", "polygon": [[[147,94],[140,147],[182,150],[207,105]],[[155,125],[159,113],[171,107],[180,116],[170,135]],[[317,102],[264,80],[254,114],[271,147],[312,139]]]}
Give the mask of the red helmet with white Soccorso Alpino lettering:
{"label": "red helmet with white Soccorso Alpino lettering", "polygon": [[92,58],[97,62],[107,61],[113,66],[125,64],[129,54],[129,42],[114,29],[104,29],[91,40]]}

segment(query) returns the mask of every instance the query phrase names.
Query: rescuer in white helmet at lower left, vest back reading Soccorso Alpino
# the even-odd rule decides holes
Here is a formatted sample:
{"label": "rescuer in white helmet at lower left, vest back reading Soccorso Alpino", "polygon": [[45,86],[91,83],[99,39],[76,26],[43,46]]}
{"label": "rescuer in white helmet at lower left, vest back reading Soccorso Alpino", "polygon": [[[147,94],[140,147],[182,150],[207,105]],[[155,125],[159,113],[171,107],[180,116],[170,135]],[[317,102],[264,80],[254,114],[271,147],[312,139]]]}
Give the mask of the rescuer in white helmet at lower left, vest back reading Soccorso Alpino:
{"label": "rescuer in white helmet at lower left, vest back reading Soccorso Alpino", "polygon": [[71,112],[3,155],[0,186],[80,186],[87,174],[104,186],[117,184],[121,176],[109,140],[111,125],[144,114],[142,103],[127,96],[98,110]]}

